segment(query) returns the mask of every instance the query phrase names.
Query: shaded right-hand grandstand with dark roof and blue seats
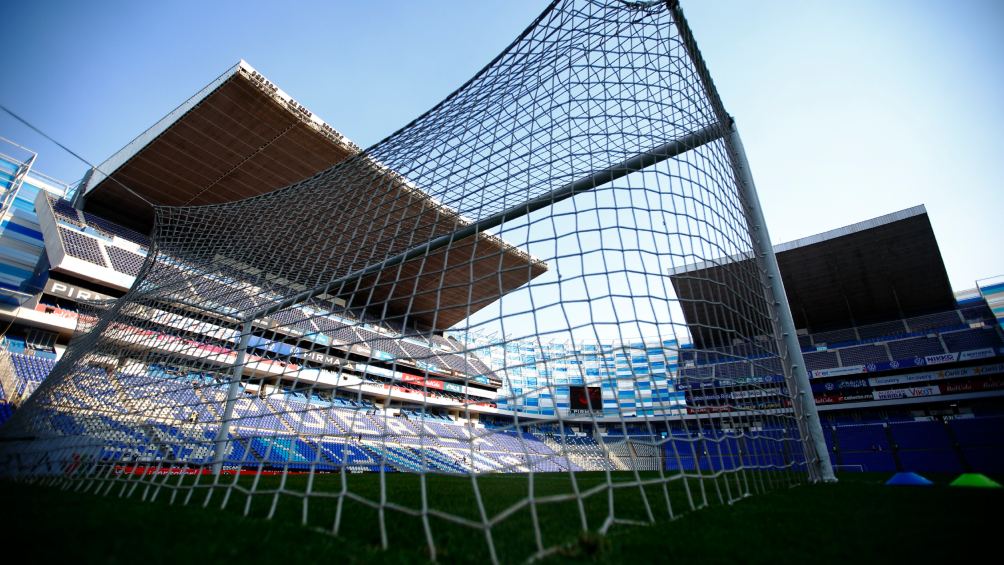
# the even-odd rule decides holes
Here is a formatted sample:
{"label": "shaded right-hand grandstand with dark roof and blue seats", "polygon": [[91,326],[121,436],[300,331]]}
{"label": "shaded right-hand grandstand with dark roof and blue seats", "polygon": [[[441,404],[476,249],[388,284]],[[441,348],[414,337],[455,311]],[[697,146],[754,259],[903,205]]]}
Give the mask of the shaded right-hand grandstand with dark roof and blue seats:
{"label": "shaded right-hand grandstand with dark roof and blue seats", "polygon": [[[992,308],[995,287],[952,292],[923,206],[775,252],[835,466],[1004,469],[1004,341]],[[724,280],[731,267],[681,269],[674,286],[693,299],[692,278]],[[720,298],[714,307],[735,307]],[[692,335],[678,382],[688,410],[779,405],[783,379],[773,359],[732,344],[728,331],[696,327]]]}

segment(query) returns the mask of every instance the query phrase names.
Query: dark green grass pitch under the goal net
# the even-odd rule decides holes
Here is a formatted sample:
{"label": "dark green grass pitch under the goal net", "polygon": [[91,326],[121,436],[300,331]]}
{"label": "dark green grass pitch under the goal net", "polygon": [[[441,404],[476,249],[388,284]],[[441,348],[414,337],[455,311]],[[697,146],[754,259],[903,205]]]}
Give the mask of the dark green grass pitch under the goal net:
{"label": "dark green grass pitch under the goal net", "polygon": [[[629,480],[631,475],[614,475]],[[651,476],[650,476],[651,477]],[[650,563],[693,561],[705,563],[846,563],[852,562],[953,562],[975,561],[981,552],[996,548],[999,508],[1004,490],[949,488],[953,477],[932,477],[931,488],[885,487],[887,476],[843,475],[836,485],[781,488],[767,494],[721,504],[716,489],[724,482],[706,481],[711,508],[687,512],[668,520],[667,496],[677,512],[689,508],[680,482],[663,491],[650,486],[647,494],[659,520],[654,526],[615,525],[606,537],[579,533],[579,511],[574,501],[538,505],[537,520],[544,545],[565,544],[545,562],[596,561]],[[370,500],[386,497],[389,503],[421,507],[420,478],[389,476],[382,494],[379,476],[348,476],[352,493]],[[769,480],[769,479],[764,479]],[[173,479],[171,484],[177,484]],[[242,478],[240,485],[252,486]],[[338,476],[319,477],[314,492],[336,493]],[[567,475],[534,476],[538,497],[565,493]],[[581,490],[605,482],[603,474],[582,474]],[[188,482],[186,484],[189,484]],[[194,491],[189,505],[170,505],[172,491],[162,489],[156,500],[141,499],[144,487],[132,497],[119,496],[120,482],[104,496],[63,491],[51,487],[0,482],[4,501],[6,539],[30,548],[33,560],[84,562],[178,563],[194,560],[259,562],[423,562],[428,559],[423,522],[400,512],[384,516],[390,549],[381,548],[376,510],[354,501],[341,508],[339,536],[330,531],[337,513],[337,499],[312,498],[307,507],[310,528],[300,526],[302,497],[279,494],[278,478],[260,478],[250,498],[250,513],[243,516],[249,497],[232,493],[226,510],[219,510],[221,493],[214,493],[203,509],[207,490]],[[487,476],[478,479],[486,512],[491,516],[525,498],[529,488],[524,476]],[[692,481],[691,495],[701,501],[701,485]],[[737,485],[733,482],[730,488]],[[303,492],[303,478],[289,478],[284,491]],[[431,509],[480,521],[471,481],[465,478],[429,477]],[[734,491],[733,494],[735,494]],[[148,491],[150,497],[153,492]],[[265,520],[275,504],[275,516]],[[614,491],[618,518],[647,519],[637,487]],[[584,514],[591,530],[607,514],[606,491],[589,497]],[[482,531],[454,526],[431,517],[440,561],[487,563]],[[522,561],[534,551],[535,542],[528,507],[519,509],[495,528],[494,540],[503,562]],[[983,553],[985,554],[985,553]],[[234,562],[234,561],[231,561]]]}

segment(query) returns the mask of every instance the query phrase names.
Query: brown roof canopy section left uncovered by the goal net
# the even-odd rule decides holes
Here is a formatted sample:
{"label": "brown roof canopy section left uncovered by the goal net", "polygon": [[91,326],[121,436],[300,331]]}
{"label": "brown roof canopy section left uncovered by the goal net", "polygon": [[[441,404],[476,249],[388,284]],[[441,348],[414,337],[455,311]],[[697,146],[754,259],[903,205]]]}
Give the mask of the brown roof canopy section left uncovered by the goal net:
{"label": "brown roof canopy section left uncovered by the goal net", "polygon": [[240,61],[92,170],[77,208],[140,233],[151,204],[222,204],[271,192],[359,149]]}

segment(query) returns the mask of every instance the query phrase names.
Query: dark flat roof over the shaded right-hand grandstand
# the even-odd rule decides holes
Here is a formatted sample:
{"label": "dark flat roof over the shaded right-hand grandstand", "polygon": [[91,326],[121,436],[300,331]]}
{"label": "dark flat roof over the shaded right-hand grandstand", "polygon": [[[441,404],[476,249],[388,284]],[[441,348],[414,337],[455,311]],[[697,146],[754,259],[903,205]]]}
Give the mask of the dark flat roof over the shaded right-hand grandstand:
{"label": "dark flat roof over the shaded right-hand grandstand", "polygon": [[[955,306],[924,206],[776,245],[774,252],[798,328],[822,331]],[[725,259],[670,273],[696,346],[728,344],[736,336],[699,327],[695,320],[727,320],[732,318],[729,312],[749,311],[741,302],[742,290],[723,294],[710,290],[717,285],[706,284],[734,280],[740,264]],[[769,327],[764,319],[751,320],[750,325]]]}

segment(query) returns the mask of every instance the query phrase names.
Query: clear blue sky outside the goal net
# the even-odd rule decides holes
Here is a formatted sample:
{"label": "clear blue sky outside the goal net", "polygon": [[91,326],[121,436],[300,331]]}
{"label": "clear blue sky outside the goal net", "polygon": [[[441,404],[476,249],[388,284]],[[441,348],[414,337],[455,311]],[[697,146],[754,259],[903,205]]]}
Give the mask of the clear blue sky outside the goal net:
{"label": "clear blue sky outside the goal net", "polygon": [[[99,163],[238,59],[360,146],[545,2],[53,2],[9,11],[0,100]],[[1004,2],[683,0],[775,243],[917,204],[957,289],[1004,274]],[[0,118],[64,180],[83,166]],[[923,276],[922,273],[918,274]]]}

